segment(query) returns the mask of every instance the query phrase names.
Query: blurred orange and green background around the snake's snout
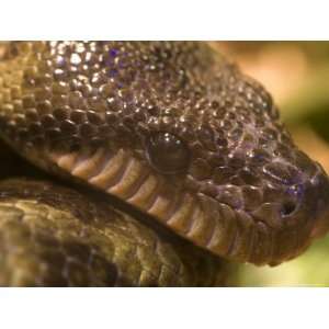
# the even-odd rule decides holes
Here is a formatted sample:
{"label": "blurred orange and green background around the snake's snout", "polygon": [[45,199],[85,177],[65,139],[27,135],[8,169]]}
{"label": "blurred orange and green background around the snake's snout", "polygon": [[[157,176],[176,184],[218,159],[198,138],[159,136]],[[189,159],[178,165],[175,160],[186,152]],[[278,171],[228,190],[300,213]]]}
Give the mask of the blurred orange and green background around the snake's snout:
{"label": "blurred orange and green background around the snake's snout", "polygon": [[[329,42],[213,43],[272,93],[296,144],[329,173]],[[241,286],[329,286],[329,236],[276,268],[242,265]]]}

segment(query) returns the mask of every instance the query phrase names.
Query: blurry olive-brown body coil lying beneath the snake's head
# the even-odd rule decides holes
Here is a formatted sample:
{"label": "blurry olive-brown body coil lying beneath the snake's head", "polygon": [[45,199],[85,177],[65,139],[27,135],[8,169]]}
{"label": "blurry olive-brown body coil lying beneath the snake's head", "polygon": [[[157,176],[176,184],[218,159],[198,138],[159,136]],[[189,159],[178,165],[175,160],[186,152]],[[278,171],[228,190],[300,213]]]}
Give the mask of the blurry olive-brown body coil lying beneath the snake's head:
{"label": "blurry olive-brown body coil lying beneath the snake's head", "polygon": [[90,195],[22,179],[0,191],[1,286],[225,284],[223,261],[172,245]]}

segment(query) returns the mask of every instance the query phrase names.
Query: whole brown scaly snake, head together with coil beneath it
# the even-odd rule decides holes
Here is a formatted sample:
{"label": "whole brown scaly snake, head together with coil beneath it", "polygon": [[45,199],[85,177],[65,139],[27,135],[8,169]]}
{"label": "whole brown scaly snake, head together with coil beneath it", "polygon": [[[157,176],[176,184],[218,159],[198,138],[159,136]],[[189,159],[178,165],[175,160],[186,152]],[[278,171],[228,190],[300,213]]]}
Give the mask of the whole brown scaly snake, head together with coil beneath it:
{"label": "whole brown scaly snake, head together with coil beneath it", "polygon": [[277,265],[328,231],[326,172],[212,44],[10,42],[0,56],[1,148],[16,157],[1,169],[0,285],[226,285],[235,264]]}

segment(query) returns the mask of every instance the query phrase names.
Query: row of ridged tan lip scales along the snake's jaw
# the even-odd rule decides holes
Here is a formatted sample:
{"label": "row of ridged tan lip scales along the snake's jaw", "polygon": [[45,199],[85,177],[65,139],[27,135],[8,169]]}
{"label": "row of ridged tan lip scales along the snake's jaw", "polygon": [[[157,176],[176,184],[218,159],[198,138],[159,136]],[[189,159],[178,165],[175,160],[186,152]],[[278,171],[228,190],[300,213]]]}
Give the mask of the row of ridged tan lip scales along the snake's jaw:
{"label": "row of ridged tan lip scales along the snake's jaw", "polygon": [[[276,264],[296,254],[303,238],[284,230],[288,242],[279,246],[281,231],[245,211],[202,194],[172,186],[129,150],[83,149],[49,152],[52,163],[93,188],[125,201],[183,238],[220,257],[257,264]],[[303,235],[298,230],[299,235]]]}

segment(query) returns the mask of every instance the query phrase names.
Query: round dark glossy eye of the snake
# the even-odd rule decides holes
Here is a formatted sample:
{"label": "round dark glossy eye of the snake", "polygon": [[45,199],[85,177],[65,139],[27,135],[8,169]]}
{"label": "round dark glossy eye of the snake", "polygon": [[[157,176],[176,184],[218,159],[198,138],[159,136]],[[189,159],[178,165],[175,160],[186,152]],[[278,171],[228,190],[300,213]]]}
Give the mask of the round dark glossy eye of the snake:
{"label": "round dark glossy eye of the snake", "polygon": [[148,138],[147,157],[150,164],[161,173],[182,172],[190,163],[190,151],[185,143],[164,132]]}

